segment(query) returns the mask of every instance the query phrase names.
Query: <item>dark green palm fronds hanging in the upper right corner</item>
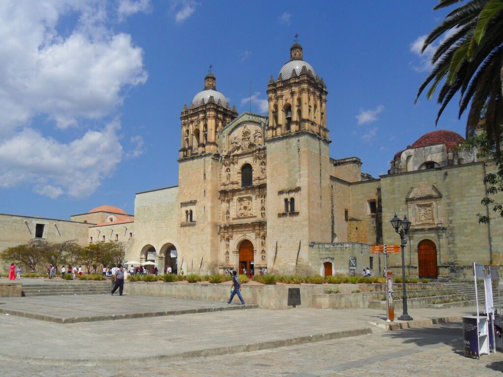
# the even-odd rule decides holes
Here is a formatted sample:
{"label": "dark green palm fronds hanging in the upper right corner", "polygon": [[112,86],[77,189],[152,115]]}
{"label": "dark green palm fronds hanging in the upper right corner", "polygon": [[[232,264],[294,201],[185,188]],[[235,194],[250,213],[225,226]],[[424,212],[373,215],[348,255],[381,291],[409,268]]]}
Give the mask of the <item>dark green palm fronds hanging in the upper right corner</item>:
{"label": "dark green palm fronds hanging in the upper right corner", "polygon": [[[434,10],[462,1],[439,0]],[[503,0],[471,0],[456,8],[426,38],[422,52],[444,34],[445,40],[432,57],[433,70],[417,91],[415,101],[430,83],[431,99],[444,80],[435,123],[459,91],[458,116],[470,106],[466,136],[474,134],[484,109],[488,143],[498,157],[503,123]]]}

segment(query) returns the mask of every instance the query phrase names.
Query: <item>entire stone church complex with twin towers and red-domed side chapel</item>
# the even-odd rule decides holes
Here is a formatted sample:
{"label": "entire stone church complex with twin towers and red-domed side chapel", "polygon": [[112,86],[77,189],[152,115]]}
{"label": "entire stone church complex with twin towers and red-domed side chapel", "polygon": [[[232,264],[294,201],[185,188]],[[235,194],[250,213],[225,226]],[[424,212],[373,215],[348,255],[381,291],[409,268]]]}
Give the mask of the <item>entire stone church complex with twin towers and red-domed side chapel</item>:
{"label": "entire stone church complex with twin towers and red-domed side chapel", "polygon": [[[357,157],[330,158],[326,84],[299,44],[267,93],[267,116],[238,115],[209,73],[181,112],[179,185],[137,193],[134,215],[98,207],[65,223],[74,231],[44,239],[123,242],[127,260],[185,273],[348,274],[352,257],[357,274],[382,274],[370,245],[399,243],[389,224],[396,212],[412,222],[408,274],[467,276],[473,261],[499,264],[501,223],[481,225],[476,216],[486,210],[483,178],[494,167],[456,151],[461,136],[426,134],[373,178]],[[16,235],[4,231],[0,249],[33,238],[23,219],[0,215],[0,227]],[[399,255],[389,262],[398,272]]]}

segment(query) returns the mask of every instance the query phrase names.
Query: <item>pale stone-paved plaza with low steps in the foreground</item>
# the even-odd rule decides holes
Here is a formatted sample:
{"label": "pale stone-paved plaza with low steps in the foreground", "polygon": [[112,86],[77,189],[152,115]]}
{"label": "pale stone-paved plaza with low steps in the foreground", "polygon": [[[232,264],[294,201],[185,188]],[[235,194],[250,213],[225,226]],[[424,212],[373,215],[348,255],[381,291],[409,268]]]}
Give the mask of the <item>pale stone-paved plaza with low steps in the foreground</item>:
{"label": "pale stone-paved plaza with low steps in the foreground", "polygon": [[503,371],[503,353],[463,355],[459,321],[474,307],[413,309],[412,322],[390,325],[382,310],[267,310],[222,301],[129,294],[127,284],[122,297],[4,297],[0,365],[11,376],[44,377]]}

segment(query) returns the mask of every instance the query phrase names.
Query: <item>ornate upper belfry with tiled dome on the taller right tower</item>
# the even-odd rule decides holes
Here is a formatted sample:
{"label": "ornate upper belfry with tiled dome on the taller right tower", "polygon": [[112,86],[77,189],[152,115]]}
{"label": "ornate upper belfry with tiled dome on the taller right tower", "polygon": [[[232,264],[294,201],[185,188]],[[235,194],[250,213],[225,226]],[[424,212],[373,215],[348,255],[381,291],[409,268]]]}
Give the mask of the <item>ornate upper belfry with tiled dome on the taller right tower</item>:
{"label": "ornate upper belfry with tiled dome on the taller right tower", "polygon": [[326,128],[326,85],[312,66],[303,60],[302,46],[290,48],[290,61],[278,79],[267,85],[269,126],[267,136],[308,131],[328,139]]}

